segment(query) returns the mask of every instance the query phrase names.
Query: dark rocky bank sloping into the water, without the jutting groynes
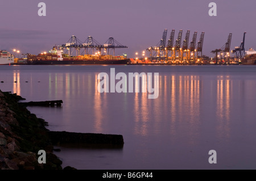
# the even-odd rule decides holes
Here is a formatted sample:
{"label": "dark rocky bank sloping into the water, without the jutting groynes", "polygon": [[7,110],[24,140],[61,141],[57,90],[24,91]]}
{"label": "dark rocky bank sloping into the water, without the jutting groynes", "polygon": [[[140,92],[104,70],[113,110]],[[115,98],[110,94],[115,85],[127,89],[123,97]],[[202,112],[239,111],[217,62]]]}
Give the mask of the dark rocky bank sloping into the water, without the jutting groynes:
{"label": "dark rocky bank sloping into the water, without the jutting groynes", "polygon": [[[20,99],[0,90],[0,169],[63,170],[53,154],[46,121],[20,106]],[[38,162],[39,150],[46,151],[46,163]]]}

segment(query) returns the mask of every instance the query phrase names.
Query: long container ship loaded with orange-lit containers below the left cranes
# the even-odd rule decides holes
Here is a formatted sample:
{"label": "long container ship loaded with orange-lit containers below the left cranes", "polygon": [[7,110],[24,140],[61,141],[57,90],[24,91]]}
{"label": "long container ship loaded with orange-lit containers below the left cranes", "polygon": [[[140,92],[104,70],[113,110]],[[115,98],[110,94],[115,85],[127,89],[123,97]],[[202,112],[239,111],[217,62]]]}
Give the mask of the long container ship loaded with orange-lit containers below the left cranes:
{"label": "long container ship loaded with orange-lit containers below the left cranes", "polygon": [[94,65],[94,64],[128,64],[130,59],[126,56],[112,56],[100,54],[84,54],[72,56],[64,54],[63,50],[53,48],[49,53],[40,53],[37,56],[27,54],[26,64],[28,65]]}

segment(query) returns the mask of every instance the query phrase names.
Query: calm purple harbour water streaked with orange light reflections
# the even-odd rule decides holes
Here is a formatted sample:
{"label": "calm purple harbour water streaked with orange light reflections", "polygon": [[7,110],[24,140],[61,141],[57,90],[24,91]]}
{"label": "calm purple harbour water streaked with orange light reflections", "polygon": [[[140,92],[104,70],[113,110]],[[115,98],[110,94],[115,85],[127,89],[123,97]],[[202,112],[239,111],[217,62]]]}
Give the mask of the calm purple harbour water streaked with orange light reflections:
{"label": "calm purple harbour water streaked with orange light reflections", "polygon": [[[100,93],[98,73],[159,73],[159,96]],[[77,169],[256,169],[256,66],[0,66],[0,89],[28,101],[51,131],[122,134],[122,149],[60,148]],[[59,148],[59,147],[57,147]],[[209,150],[217,163],[210,164]]]}

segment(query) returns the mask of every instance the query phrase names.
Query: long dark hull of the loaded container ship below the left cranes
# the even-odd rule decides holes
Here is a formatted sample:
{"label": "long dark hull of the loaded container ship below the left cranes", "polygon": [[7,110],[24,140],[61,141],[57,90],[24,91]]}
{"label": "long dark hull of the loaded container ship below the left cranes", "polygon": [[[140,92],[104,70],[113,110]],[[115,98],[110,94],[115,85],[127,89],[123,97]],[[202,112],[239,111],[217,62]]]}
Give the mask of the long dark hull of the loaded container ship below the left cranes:
{"label": "long dark hull of the loaded container ship below the left cranes", "polygon": [[125,60],[27,60],[28,65],[108,65],[108,64],[128,64]]}

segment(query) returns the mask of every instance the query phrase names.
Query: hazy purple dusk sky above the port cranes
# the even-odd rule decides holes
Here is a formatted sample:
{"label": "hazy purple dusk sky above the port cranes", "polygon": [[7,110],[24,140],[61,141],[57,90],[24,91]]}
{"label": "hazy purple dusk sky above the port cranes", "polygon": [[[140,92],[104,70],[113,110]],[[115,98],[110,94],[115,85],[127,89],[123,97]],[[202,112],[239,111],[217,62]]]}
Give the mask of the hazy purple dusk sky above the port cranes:
{"label": "hazy purple dusk sky above the port cranes", "polygon": [[[46,16],[38,16],[38,3],[46,3]],[[209,16],[209,3],[217,3],[217,16]],[[155,46],[162,33],[175,29],[175,40],[183,30],[197,31],[197,41],[205,32],[203,54],[221,48],[233,33],[231,49],[239,46],[243,32],[245,49],[256,49],[255,0],[22,0],[2,1],[0,6],[0,49],[38,54],[54,45],[65,44],[72,35],[84,42],[92,36],[104,44],[114,37],[128,49],[116,54],[142,52]]]}

